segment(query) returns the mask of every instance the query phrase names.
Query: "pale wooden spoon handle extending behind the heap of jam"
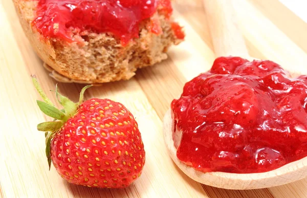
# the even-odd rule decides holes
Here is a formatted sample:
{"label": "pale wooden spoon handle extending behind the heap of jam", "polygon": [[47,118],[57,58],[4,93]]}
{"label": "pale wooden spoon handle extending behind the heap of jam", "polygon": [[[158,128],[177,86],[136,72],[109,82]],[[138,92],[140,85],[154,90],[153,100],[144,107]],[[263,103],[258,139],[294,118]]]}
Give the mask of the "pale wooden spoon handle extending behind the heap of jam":
{"label": "pale wooden spoon handle extending behind the heap of jam", "polygon": [[249,54],[236,23],[233,0],[203,0],[216,57]]}

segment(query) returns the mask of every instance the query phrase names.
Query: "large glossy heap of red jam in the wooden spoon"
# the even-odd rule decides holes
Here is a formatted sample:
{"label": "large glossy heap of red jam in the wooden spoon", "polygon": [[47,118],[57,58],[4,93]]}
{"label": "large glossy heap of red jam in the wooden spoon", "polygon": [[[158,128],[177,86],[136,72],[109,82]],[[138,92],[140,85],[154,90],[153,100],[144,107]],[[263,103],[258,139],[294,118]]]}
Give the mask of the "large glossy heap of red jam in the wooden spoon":
{"label": "large glossy heap of red jam in the wooden spoon", "polygon": [[[307,76],[217,58],[171,104],[177,157],[203,172],[266,172],[307,156]],[[177,145],[179,146],[177,146]]]}

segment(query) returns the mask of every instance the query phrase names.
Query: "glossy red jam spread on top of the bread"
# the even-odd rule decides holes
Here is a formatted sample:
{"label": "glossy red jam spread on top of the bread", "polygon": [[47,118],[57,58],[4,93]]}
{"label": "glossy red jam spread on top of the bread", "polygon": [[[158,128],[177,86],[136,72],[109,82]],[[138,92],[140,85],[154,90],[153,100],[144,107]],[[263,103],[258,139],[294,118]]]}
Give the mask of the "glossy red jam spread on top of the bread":
{"label": "glossy red jam spread on top of the bread", "polygon": [[[46,38],[77,41],[76,33],[112,33],[125,45],[139,37],[140,23],[158,9],[169,17],[170,0],[38,0],[32,26]],[[154,22],[153,22],[154,23]],[[162,33],[153,26],[152,32]]]}

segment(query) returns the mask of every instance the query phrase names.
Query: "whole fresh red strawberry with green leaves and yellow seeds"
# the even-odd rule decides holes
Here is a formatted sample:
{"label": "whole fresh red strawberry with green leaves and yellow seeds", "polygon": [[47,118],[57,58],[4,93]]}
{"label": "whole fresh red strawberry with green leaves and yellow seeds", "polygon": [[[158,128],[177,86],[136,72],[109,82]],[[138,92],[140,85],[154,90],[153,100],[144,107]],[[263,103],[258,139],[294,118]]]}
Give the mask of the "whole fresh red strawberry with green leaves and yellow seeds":
{"label": "whole fresh red strawberry with green leaves and yellow seeds", "polygon": [[46,132],[46,155],[62,178],[70,183],[100,188],[123,188],[140,177],[145,151],[138,124],[121,103],[108,99],[74,103],[58,93],[63,106],[57,109],[42,92],[35,76],[35,87],[43,100],[41,111],[54,118],[37,125]]}

